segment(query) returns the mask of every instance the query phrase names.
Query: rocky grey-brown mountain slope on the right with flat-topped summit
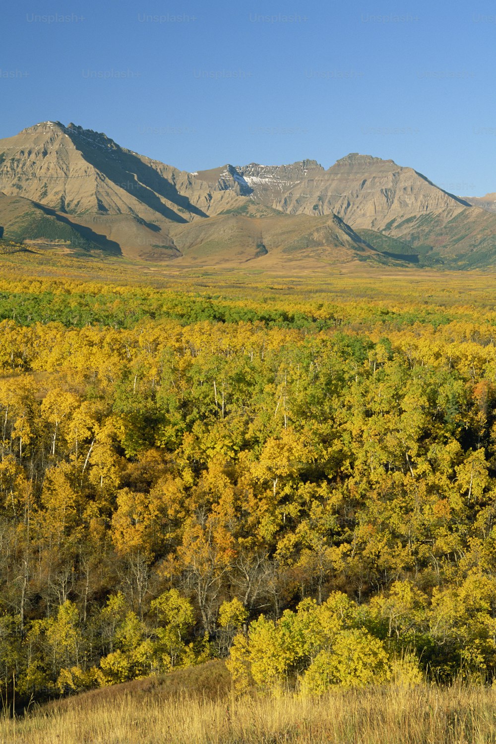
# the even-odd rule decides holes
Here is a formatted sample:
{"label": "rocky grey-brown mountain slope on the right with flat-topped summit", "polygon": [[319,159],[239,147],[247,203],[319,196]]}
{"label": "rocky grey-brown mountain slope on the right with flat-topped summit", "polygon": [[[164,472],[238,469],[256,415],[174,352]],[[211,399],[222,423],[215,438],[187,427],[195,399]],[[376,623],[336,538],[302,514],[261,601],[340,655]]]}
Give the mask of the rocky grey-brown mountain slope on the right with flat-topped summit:
{"label": "rocky grey-brown mountain slope on the right with flat-topped summit", "polygon": [[[236,170],[264,204],[289,214],[336,214],[390,257],[460,268],[496,263],[496,215],[392,160],[350,153],[328,170],[316,161]],[[384,237],[399,245],[384,247]]]}

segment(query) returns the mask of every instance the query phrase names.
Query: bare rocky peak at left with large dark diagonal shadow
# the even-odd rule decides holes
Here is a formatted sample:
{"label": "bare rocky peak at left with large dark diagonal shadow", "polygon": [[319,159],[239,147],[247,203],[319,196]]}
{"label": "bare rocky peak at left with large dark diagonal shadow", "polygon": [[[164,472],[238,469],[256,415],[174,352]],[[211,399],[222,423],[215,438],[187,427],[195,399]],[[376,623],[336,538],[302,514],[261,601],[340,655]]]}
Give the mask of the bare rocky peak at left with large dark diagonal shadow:
{"label": "bare rocky peak at left with large dark diagonal shadow", "polygon": [[[44,122],[0,140],[0,189],[69,214],[202,214],[175,188],[180,171],[119,147],[106,135]],[[166,173],[167,176],[166,177]]]}

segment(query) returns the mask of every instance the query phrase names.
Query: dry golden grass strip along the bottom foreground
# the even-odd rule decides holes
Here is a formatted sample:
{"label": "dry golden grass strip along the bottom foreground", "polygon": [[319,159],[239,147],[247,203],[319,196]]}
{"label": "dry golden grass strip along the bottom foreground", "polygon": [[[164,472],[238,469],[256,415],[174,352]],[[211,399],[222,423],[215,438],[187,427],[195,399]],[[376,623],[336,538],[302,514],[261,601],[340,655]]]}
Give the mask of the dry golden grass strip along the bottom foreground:
{"label": "dry golden grass strip along the bottom foreground", "polygon": [[[83,696],[84,698],[85,696]],[[342,690],[321,699],[132,696],[0,722],[5,744],[488,744],[496,690],[483,686]]]}

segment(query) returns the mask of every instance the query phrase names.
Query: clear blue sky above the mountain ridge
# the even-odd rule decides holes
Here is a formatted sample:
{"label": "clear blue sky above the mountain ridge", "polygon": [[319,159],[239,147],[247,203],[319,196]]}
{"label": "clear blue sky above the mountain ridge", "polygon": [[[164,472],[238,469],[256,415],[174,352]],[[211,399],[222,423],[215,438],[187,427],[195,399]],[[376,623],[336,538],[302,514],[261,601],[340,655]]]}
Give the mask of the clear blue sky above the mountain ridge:
{"label": "clear blue sky above the mountain ridge", "polygon": [[359,152],[496,191],[494,2],[16,0],[0,29],[0,137],[72,121],[184,170]]}

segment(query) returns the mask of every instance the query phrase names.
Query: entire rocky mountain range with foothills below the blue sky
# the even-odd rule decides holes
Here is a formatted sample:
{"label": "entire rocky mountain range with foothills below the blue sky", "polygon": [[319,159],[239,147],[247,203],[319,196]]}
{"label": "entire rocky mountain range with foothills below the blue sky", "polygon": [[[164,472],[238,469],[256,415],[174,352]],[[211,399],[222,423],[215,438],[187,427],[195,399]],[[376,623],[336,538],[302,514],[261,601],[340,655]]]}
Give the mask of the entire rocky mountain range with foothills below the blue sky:
{"label": "entire rocky mountain range with foothills below the blue sky", "polygon": [[188,173],[46,121],[0,139],[0,237],[184,266],[485,268],[496,265],[496,194],[454,196],[358,153],[327,170],[304,160]]}

